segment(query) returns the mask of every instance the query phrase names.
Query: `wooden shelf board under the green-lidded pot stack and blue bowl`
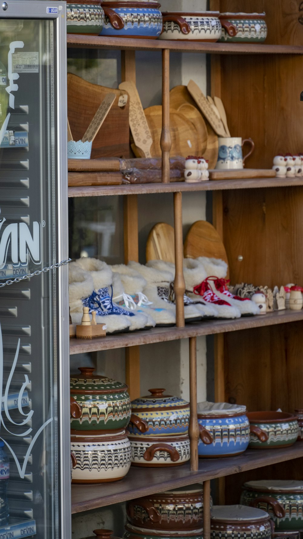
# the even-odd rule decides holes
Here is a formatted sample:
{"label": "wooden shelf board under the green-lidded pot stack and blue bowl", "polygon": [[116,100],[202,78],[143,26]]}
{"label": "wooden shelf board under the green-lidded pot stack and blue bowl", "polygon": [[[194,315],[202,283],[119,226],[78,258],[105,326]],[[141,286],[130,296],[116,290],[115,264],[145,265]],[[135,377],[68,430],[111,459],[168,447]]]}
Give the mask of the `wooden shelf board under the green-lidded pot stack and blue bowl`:
{"label": "wooden shelf board under the green-lidded pot stack and blue bowl", "polygon": [[247,450],[238,457],[199,459],[198,472],[191,472],[189,464],[154,469],[131,467],[121,481],[72,485],[72,514],[300,457],[303,443],[297,442],[283,449]]}

